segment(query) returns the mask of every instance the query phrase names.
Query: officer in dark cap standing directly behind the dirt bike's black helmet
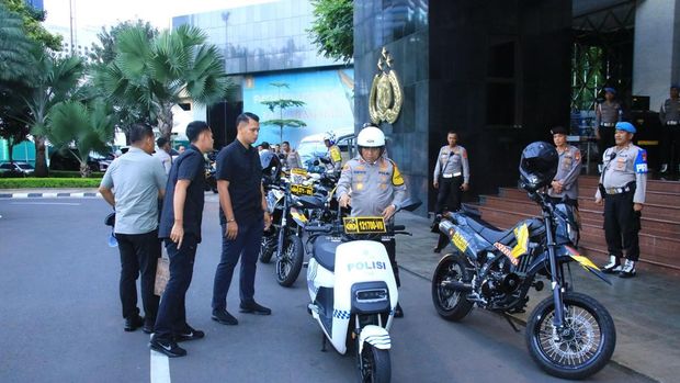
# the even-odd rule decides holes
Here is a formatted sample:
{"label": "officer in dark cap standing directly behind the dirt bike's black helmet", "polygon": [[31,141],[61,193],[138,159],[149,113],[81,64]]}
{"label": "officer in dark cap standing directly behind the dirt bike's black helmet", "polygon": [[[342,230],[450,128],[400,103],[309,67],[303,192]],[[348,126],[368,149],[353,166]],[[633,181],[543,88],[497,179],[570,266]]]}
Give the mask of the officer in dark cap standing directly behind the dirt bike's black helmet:
{"label": "officer in dark cap standing directly behind the dirt bike's black helmet", "polygon": [[551,129],[559,156],[557,174],[551,182],[547,194],[555,202],[565,201],[578,207],[578,176],[581,171],[581,151],[567,144],[567,129],[556,126]]}

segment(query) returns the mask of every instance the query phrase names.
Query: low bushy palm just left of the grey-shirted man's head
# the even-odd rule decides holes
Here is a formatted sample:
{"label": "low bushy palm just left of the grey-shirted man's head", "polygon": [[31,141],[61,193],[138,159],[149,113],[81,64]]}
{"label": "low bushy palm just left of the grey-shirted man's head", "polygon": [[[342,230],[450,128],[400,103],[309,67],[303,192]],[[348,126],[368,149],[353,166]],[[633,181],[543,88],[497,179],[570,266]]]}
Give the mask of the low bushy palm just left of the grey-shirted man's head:
{"label": "low bushy palm just left of the grey-shirted man's head", "polygon": [[[114,119],[111,105],[103,99],[84,104],[64,101],[54,105],[47,114],[49,142],[61,150],[68,150],[80,162],[80,176],[90,176],[88,156],[91,151],[106,154],[113,139]],[[75,150],[77,149],[77,150]]]}

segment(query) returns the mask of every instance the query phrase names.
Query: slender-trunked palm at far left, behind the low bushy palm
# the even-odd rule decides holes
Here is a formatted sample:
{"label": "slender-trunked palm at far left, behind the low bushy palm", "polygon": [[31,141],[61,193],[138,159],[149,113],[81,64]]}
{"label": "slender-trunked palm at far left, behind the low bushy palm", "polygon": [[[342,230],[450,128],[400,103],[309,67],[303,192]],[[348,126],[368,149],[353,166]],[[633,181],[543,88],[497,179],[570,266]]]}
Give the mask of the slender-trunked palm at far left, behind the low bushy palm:
{"label": "slender-trunked palm at far left, behind the low bushy palm", "polygon": [[82,78],[83,64],[77,56],[55,58],[41,55],[34,63],[36,76],[33,89],[25,98],[30,110],[29,126],[35,143],[35,176],[47,176],[45,137],[49,135],[47,114],[57,103],[79,95],[78,81]]}

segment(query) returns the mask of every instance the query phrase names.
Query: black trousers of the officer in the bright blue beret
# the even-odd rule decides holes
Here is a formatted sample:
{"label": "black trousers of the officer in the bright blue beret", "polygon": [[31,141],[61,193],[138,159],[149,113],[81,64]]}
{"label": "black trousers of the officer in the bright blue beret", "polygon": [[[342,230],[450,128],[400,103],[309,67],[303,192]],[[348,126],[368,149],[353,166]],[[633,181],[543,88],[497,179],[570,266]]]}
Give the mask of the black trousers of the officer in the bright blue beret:
{"label": "black trousers of the officer in the bright blue beret", "polygon": [[633,210],[632,190],[604,198],[604,238],[610,255],[637,261],[639,258],[641,212]]}

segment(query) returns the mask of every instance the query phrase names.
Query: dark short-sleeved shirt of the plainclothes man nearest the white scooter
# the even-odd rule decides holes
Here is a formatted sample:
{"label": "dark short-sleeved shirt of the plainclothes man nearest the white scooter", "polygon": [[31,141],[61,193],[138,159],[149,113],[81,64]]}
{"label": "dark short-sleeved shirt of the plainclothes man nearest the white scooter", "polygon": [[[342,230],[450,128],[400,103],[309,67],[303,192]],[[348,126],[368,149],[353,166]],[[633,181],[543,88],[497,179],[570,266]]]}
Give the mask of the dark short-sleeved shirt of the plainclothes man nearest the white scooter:
{"label": "dark short-sleeved shirt of the plainclothes man nearest the white scooter", "polygon": [[[262,165],[258,150],[252,146],[247,148],[238,139],[219,150],[217,155],[217,180],[229,181],[229,196],[234,218],[239,225],[248,225],[262,219]],[[219,223],[225,224],[227,218],[222,206]]]}

